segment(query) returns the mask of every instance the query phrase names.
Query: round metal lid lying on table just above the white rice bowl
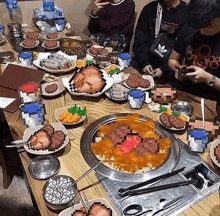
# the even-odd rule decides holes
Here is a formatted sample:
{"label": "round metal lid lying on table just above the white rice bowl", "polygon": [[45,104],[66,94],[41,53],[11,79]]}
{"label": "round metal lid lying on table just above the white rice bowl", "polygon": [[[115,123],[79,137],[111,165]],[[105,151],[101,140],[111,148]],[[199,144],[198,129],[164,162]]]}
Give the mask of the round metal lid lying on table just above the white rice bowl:
{"label": "round metal lid lying on table just above the white rice bowl", "polygon": [[60,170],[58,158],[45,155],[34,158],[29,164],[29,172],[35,179],[43,180],[56,175]]}

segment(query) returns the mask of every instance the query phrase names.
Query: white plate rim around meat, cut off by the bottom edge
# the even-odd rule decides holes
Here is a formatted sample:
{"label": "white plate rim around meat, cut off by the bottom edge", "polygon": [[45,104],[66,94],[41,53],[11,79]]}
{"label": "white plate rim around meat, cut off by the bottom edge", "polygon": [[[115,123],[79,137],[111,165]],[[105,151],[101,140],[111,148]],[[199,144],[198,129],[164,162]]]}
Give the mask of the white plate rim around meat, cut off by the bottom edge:
{"label": "white plate rim around meat, cut off by the bottom edge", "polygon": [[[115,212],[115,210],[113,209],[113,207],[110,205],[110,203],[103,199],[103,198],[97,198],[97,199],[93,199],[93,200],[88,200],[89,205],[91,206],[93,203],[100,203],[100,204],[104,204],[108,209],[112,210],[112,216],[117,216],[118,214]],[[76,210],[80,210],[80,208],[82,208],[83,205],[81,203],[74,205],[72,207],[69,207],[65,210],[63,210],[62,212],[60,212],[60,214],[58,216],[71,216],[73,215],[73,213]]]}

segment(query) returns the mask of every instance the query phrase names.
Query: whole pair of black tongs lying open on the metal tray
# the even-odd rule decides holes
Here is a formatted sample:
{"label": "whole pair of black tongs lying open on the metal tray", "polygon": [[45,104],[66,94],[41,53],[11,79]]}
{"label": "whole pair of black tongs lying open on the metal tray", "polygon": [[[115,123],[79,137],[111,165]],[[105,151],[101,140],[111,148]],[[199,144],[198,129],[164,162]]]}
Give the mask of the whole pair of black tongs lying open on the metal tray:
{"label": "whole pair of black tongs lying open on the metal tray", "polygon": [[[177,182],[178,183],[177,186],[176,186],[176,183],[173,183],[173,184],[169,184],[169,185],[162,185],[162,186],[156,186],[156,187],[151,187],[151,188],[144,188],[144,189],[140,189],[140,190],[135,190],[137,188],[140,188],[140,187],[152,184],[152,183],[156,183],[160,180],[164,180],[166,178],[174,176],[174,175],[182,172],[184,169],[185,169],[185,167],[180,168],[180,169],[175,170],[175,171],[172,171],[170,173],[166,173],[166,174],[157,176],[157,177],[152,178],[150,180],[147,180],[145,182],[141,182],[139,184],[132,185],[132,186],[127,187],[127,188],[120,188],[118,190],[118,196],[119,197],[126,197],[126,196],[138,195],[138,194],[143,194],[143,193],[150,193],[150,192],[153,192],[153,191],[168,189],[168,186],[173,186],[173,187],[183,186],[183,185],[185,185],[183,182]],[[187,184],[190,184],[188,182],[189,181],[187,181]]]}

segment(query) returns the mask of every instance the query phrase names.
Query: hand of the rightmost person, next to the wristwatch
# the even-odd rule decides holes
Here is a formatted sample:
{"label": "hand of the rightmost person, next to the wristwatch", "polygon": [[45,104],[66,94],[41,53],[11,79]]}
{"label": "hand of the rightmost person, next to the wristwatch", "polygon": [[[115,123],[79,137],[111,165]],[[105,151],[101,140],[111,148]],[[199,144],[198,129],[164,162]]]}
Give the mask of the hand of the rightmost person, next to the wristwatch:
{"label": "hand of the rightmost person, next to the wristwatch", "polygon": [[204,69],[197,66],[190,66],[188,69],[193,70],[194,72],[187,73],[186,78],[190,79],[194,83],[207,83],[212,78],[212,74],[206,72]]}

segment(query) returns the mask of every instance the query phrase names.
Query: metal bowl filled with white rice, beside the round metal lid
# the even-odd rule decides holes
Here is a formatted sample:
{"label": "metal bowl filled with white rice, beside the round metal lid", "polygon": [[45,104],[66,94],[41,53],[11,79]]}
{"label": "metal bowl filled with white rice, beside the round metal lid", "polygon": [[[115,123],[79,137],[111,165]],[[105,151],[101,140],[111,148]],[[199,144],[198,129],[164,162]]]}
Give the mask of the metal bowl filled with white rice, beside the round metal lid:
{"label": "metal bowl filled with white rice, beside the round metal lid", "polygon": [[43,187],[46,205],[53,210],[63,210],[73,205],[77,193],[77,185],[74,183],[75,180],[66,175],[57,175],[48,179]]}

